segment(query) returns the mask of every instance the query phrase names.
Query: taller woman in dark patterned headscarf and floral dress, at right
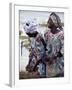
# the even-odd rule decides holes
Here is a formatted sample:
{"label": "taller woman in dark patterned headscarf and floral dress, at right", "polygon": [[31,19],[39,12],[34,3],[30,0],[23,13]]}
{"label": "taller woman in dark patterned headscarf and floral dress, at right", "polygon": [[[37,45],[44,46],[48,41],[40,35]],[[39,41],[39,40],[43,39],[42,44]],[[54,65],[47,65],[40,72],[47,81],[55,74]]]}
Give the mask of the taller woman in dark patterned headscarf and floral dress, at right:
{"label": "taller woman in dark patterned headscarf and floral dress, at right", "polygon": [[[64,74],[64,33],[59,16],[52,12],[49,16],[47,30],[44,34],[46,42],[46,58],[55,71],[52,76]],[[51,77],[51,76],[50,76]]]}

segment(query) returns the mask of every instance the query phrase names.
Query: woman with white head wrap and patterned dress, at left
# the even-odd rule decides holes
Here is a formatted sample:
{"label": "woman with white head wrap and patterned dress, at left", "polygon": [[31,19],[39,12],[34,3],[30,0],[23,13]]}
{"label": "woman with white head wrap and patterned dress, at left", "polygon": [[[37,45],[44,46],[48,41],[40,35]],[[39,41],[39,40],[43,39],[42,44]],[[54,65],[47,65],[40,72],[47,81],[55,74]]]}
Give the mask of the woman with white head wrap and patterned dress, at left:
{"label": "woman with white head wrap and patterned dress, at left", "polygon": [[27,65],[27,70],[33,72],[37,70],[38,73],[42,76],[45,76],[45,42],[41,34],[37,31],[37,23],[35,20],[28,20],[25,23],[24,30],[28,35],[30,42],[30,55],[29,63]]}

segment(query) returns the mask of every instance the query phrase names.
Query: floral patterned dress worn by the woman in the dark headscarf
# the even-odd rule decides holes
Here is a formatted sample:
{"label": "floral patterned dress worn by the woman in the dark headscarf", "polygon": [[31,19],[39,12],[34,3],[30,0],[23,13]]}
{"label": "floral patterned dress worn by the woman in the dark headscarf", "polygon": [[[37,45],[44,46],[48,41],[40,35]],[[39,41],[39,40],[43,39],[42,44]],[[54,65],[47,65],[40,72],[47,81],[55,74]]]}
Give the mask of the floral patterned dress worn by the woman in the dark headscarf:
{"label": "floral patterned dress worn by the woman in the dark headscarf", "polygon": [[50,30],[44,34],[47,58],[52,61],[52,67],[56,74],[64,72],[64,32],[52,34]]}

